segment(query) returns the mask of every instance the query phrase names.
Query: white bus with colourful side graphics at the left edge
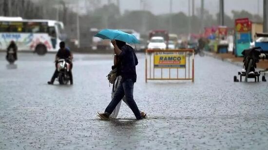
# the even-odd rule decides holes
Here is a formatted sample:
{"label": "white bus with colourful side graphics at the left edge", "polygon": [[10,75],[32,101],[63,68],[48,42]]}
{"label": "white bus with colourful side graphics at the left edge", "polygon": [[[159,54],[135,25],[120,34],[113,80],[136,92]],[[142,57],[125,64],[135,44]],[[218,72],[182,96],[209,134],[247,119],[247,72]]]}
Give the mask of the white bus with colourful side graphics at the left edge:
{"label": "white bus with colourful side graphics at the left edge", "polygon": [[0,17],[0,50],[6,50],[14,41],[18,50],[33,51],[39,55],[57,51],[65,40],[64,25],[60,21]]}

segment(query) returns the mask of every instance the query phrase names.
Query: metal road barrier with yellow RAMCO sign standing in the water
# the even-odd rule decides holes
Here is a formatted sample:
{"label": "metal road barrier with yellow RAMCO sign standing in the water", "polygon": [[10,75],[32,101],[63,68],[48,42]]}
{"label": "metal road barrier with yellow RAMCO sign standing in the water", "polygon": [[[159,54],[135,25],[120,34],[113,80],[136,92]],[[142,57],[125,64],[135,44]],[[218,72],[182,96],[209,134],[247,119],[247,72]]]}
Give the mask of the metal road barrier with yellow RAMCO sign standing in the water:
{"label": "metal road barrier with yellow RAMCO sign standing in the water", "polygon": [[145,80],[194,82],[194,50],[146,50]]}

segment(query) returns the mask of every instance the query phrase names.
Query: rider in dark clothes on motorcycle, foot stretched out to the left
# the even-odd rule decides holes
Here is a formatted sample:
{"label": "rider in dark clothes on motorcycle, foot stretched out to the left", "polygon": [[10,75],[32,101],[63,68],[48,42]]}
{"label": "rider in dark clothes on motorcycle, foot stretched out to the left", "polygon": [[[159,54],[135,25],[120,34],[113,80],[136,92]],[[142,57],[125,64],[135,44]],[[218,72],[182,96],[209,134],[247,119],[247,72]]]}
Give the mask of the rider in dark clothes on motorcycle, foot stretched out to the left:
{"label": "rider in dark clothes on motorcycle, foot stretched out to the left", "polygon": [[49,82],[47,82],[48,84],[53,84],[55,79],[58,76],[58,71],[57,71],[57,63],[59,59],[65,59],[65,61],[67,63],[70,64],[70,70],[69,70],[69,76],[70,76],[70,84],[73,84],[73,74],[72,74],[72,68],[73,68],[73,63],[72,63],[72,59],[73,59],[73,54],[71,53],[70,50],[67,50],[65,48],[65,43],[64,42],[60,42],[59,43],[59,50],[57,51],[56,54],[56,58],[55,58],[55,65],[56,65],[56,70],[51,78],[51,80]]}

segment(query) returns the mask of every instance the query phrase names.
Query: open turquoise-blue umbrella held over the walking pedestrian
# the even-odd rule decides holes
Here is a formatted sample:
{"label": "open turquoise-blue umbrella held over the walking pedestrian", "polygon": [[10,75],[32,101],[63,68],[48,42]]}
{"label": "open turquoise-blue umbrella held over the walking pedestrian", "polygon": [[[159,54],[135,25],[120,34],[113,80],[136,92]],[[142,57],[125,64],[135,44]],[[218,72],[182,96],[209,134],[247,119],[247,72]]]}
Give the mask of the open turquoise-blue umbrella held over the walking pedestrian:
{"label": "open turquoise-blue umbrella held over the walking pedestrian", "polygon": [[102,39],[116,39],[129,44],[140,44],[140,41],[134,35],[122,32],[120,30],[104,29],[94,36]]}

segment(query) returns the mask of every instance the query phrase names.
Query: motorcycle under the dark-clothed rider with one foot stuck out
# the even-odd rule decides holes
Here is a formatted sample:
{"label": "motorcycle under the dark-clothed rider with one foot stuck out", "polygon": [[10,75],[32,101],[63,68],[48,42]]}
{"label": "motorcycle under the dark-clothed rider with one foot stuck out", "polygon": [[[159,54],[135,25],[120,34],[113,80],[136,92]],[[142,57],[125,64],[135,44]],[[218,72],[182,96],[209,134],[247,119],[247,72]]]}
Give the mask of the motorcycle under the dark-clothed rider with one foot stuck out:
{"label": "motorcycle under the dark-clothed rider with one foot stuck out", "polygon": [[71,65],[66,62],[65,59],[59,59],[57,61],[57,71],[58,71],[58,76],[57,80],[59,84],[67,84],[70,81],[70,71]]}

